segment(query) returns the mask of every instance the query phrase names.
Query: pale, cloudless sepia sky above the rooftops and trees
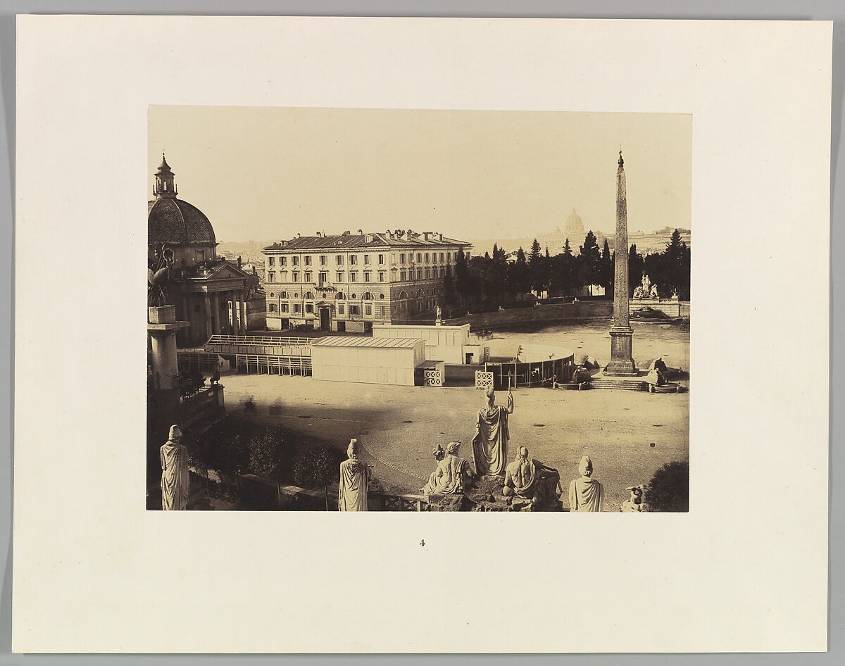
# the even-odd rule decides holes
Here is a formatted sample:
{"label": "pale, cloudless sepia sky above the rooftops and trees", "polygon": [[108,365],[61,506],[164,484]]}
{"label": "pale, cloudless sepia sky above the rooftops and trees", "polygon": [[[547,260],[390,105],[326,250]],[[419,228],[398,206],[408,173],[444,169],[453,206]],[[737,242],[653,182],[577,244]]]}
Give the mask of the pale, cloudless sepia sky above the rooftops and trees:
{"label": "pale, cloudless sepia sky above the rooftops and trees", "polygon": [[[690,228],[692,116],[664,113],[150,106],[162,152],[218,242],[413,229],[459,239]],[[150,197],[151,198],[151,194]]]}

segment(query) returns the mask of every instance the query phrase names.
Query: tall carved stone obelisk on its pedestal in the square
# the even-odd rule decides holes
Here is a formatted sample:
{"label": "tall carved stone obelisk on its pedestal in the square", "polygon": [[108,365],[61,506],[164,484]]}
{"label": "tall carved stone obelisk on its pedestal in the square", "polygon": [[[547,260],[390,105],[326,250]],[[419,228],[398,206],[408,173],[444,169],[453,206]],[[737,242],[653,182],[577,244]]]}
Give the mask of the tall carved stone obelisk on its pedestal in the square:
{"label": "tall carved stone obelisk on its pedestal in the square", "polygon": [[633,377],[637,373],[631,355],[634,330],[628,311],[628,199],[625,194],[625,170],[619,150],[616,170],[616,252],[613,270],[613,327],[610,329],[610,363],[604,374]]}

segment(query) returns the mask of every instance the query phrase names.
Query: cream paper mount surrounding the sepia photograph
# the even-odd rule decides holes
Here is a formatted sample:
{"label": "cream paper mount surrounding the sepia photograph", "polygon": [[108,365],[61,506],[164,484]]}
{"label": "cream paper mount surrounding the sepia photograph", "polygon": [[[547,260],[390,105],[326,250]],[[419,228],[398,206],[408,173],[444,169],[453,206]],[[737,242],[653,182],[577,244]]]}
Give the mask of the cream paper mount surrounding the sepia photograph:
{"label": "cream paper mount surrounding the sepia photograph", "polygon": [[[22,16],[17,67],[15,651],[826,649],[830,23]],[[692,114],[690,513],[144,510],[150,105]]]}

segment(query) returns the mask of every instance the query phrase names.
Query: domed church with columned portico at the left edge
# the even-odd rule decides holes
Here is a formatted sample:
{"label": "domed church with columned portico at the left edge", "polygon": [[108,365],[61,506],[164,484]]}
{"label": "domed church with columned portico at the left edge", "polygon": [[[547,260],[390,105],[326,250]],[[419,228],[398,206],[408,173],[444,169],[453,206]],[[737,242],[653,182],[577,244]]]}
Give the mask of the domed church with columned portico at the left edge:
{"label": "domed church with columned portico at the left edge", "polygon": [[[175,175],[162,155],[147,202],[147,248],[150,267],[166,258],[166,302],[176,306],[177,320],[190,324],[177,342],[199,346],[218,333],[246,333],[252,276],[217,256],[214,227],[202,210],[177,199]],[[263,302],[256,306],[263,311]]]}

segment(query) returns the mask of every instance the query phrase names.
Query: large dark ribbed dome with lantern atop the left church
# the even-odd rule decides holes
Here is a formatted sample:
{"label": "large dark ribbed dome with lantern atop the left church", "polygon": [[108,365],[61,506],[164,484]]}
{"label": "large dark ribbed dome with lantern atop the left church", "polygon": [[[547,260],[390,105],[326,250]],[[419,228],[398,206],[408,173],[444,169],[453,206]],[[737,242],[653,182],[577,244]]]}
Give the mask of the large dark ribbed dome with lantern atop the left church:
{"label": "large dark ribbed dome with lantern atop the left church", "polygon": [[176,198],[175,176],[162,154],[155,172],[155,199],[147,202],[147,244],[215,245],[214,227],[203,211]]}

